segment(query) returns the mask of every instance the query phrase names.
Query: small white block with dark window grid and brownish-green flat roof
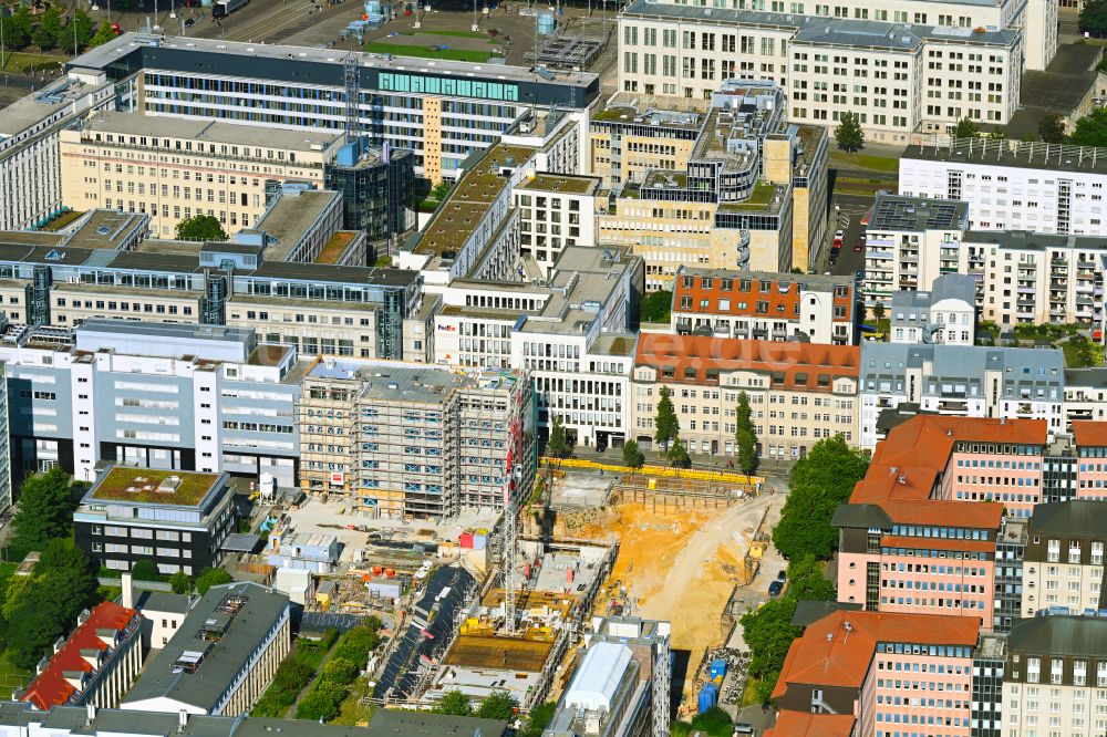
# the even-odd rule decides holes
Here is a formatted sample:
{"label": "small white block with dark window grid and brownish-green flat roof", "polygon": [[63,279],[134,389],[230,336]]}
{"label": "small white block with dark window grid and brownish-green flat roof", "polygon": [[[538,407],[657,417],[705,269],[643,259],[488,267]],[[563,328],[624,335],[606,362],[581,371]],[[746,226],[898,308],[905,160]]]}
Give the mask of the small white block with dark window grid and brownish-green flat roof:
{"label": "small white block with dark window grid and brownish-green flat roof", "polygon": [[557,174],[528,174],[515,187],[524,260],[534,259],[548,273],[561,251],[596,243],[599,179]]}

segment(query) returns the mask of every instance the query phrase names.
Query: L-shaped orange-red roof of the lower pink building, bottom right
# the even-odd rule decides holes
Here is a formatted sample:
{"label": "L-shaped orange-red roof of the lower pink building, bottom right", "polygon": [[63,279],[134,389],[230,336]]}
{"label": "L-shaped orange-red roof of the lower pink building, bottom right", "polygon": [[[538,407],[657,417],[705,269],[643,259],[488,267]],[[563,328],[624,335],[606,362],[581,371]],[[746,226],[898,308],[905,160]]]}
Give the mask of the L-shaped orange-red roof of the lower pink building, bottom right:
{"label": "L-shaped orange-red roof of the lower pink building, bottom right", "polygon": [[979,629],[980,620],[971,616],[832,612],[792,643],[773,698],[783,696],[789,683],[860,688],[878,642],[975,645]]}

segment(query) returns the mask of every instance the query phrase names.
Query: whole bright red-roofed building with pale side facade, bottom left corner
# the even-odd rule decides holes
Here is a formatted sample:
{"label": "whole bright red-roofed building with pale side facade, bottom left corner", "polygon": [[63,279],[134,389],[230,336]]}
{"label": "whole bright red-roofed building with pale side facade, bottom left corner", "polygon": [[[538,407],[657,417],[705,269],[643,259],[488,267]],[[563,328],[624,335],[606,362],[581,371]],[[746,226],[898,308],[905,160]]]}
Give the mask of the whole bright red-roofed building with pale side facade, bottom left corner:
{"label": "whole bright red-roofed building with pale side facade, bottom left corner", "polygon": [[142,668],[142,615],[104,601],[77,616],[68,640],[54,643],[31,682],[13,696],[35,709],[89,704],[118,706]]}

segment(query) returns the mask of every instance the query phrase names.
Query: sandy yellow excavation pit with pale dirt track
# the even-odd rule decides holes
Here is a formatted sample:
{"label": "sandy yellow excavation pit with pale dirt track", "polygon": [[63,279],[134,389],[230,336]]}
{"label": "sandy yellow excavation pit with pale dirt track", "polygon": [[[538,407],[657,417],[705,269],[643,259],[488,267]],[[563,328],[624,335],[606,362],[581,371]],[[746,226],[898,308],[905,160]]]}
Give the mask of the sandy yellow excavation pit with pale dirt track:
{"label": "sandy yellow excavation pit with pale dirt track", "polygon": [[[772,487],[758,492],[761,481],[621,475],[599,488],[593,474],[552,479],[551,499],[573,500],[552,510],[552,536],[619,540],[594,613],[672,623],[673,689],[682,713],[694,709],[712,660],[733,661],[725,691],[744,679],[746,648],[735,615],[765,601],[768,583],[785,568],[769,543],[784,499]],[[582,504],[588,497],[596,504]]]}

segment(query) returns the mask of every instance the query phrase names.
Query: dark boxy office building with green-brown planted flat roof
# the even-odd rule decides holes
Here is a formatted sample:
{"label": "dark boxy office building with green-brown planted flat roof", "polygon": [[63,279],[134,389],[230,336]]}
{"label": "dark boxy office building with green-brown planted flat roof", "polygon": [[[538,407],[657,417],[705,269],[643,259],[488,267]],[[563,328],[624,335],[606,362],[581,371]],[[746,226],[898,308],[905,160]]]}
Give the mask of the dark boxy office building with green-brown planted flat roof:
{"label": "dark boxy office building with green-brown planted flat roof", "polygon": [[198,575],[223,560],[237,513],[226,474],[110,466],[73,512],[76,546],[97,565],[141,560]]}

